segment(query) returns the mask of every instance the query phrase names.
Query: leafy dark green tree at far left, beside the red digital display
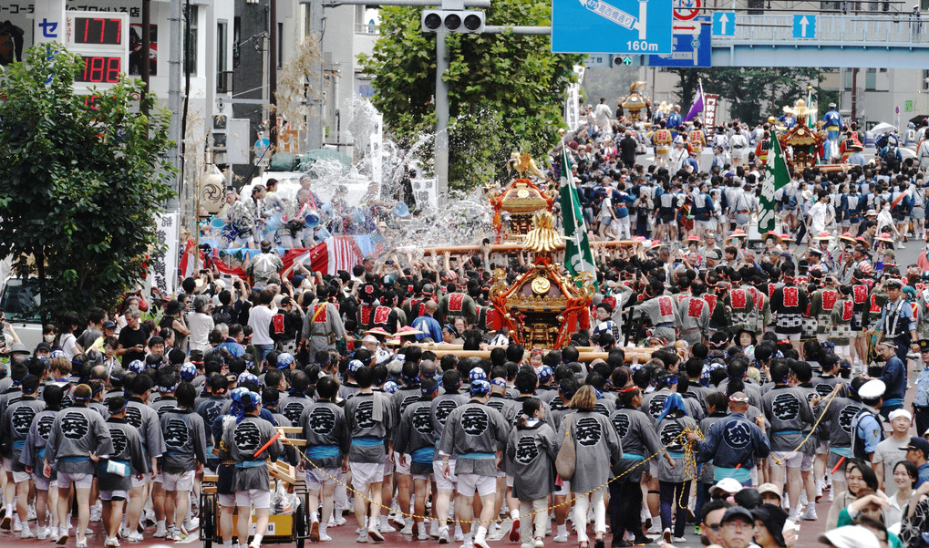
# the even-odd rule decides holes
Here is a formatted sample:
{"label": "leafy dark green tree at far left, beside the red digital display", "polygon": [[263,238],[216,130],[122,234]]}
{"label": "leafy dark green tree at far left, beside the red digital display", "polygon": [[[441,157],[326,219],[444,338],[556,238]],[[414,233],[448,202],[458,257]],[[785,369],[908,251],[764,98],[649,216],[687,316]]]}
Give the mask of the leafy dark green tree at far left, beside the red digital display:
{"label": "leafy dark green tree at far left, beside the red digital display", "polygon": [[[36,46],[0,81],[0,256],[37,274],[43,319],[110,307],[140,280],[153,215],[173,194],[170,114],[125,78],[93,107],[72,89],[80,56]],[[47,81],[47,82],[46,82]]]}

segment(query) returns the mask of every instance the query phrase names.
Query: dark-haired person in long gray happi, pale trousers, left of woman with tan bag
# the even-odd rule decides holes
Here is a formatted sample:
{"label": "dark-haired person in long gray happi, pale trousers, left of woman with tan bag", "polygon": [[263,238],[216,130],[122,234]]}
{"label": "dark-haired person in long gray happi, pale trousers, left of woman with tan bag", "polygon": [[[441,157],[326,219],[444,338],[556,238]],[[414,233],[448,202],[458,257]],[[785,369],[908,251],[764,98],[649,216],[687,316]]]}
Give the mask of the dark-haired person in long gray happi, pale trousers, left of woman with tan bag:
{"label": "dark-haired person in long gray happi, pale trousers, left of woman with tan bag", "polygon": [[558,439],[555,430],[540,420],[544,412],[541,400],[526,400],[521,411],[506,441],[506,460],[512,463],[513,497],[519,500],[519,515],[525,516],[520,522],[520,536],[524,544],[529,544],[530,538],[536,542],[545,538],[548,497],[555,490]]}

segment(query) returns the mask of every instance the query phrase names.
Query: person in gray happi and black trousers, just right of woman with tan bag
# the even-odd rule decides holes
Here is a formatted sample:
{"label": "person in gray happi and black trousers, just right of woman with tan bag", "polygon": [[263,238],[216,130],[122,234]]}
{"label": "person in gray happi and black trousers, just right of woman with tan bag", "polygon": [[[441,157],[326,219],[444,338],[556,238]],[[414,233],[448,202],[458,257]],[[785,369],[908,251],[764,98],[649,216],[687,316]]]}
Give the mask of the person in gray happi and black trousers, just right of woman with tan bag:
{"label": "person in gray happi and black trousers, just right of woman with tan bag", "polygon": [[[613,467],[613,473],[621,476],[609,484],[609,528],[613,532],[613,544],[619,545],[626,531],[635,535],[635,544],[649,541],[642,533],[642,472],[648,469],[645,459],[667,457],[661,450],[658,434],[651,418],[639,409],[642,392],[631,385],[619,392],[620,406],[609,415],[609,423],[616,430],[622,446],[622,459]],[[663,453],[663,454],[660,454]]]}

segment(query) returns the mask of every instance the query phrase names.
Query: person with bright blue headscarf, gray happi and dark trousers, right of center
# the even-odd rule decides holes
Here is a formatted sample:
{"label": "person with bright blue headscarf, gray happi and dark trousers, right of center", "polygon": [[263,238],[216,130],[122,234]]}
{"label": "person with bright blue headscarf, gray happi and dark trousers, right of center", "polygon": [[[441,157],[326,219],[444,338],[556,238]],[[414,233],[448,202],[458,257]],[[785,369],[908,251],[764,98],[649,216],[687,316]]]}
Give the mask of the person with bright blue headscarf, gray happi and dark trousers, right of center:
{"label": "person with bright blue headscarf, gray happi and dark trousers, right of center", "polygon": [[674,539],[684,538],[684,528],[687,526],[687,505],[678,501],[690,500],[690,481],[687,479],[684,461],[687,446],[684,433],[688,430],[697,431],[697,422],[687,416],[684,398],[674,393],[664,400],[664,409],[658,418],[658,439],[662,446],[667,446],[671,459],[659,460],[656,475],[660,489],[661,528],[665,537],[674,528]]}

